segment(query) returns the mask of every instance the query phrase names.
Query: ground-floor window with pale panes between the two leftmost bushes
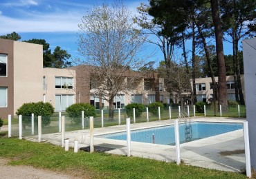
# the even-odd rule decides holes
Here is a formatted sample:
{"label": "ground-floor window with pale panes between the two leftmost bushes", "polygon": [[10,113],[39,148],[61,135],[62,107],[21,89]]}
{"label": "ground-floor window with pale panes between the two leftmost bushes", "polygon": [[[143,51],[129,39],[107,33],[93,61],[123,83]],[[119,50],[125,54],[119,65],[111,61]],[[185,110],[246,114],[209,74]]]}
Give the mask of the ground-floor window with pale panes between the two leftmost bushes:
{"label": "ground-floor window with pale panes between the two leftmost bushes", "polygon": [[73,104],[73,95],[68,94],[56,94],[55,95],[55,111],[66,111],[66,107]]}

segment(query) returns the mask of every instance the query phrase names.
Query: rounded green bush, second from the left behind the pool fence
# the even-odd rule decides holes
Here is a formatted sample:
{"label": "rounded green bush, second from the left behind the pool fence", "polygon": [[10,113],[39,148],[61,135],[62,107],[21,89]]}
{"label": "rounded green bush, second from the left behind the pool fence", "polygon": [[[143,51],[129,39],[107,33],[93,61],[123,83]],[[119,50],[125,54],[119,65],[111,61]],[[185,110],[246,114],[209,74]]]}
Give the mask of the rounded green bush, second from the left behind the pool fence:
{"label": "rounded green bush, second from the left behind the pool fence", "polygon": [[82,111],[84,111],[84,117],[96,116],[95,107],[88,103],[75,103],[66,108],[68,116],[73,118],[73,121],[77,124],[81,121]]}

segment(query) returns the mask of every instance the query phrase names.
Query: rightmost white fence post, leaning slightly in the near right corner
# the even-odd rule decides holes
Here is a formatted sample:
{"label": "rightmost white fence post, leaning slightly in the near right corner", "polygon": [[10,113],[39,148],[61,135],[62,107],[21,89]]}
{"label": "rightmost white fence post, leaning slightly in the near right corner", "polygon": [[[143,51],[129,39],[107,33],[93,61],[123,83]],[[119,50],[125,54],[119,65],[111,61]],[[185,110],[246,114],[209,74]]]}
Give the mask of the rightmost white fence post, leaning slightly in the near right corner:
{"label": "rightmost white fence post, leaning slightly in the near right corner", "polygon": [[246,155],[246,176],[251,178],[251,166],[250,166],[250,144],[248,133],[248,121],[244,121],[244,151]]}

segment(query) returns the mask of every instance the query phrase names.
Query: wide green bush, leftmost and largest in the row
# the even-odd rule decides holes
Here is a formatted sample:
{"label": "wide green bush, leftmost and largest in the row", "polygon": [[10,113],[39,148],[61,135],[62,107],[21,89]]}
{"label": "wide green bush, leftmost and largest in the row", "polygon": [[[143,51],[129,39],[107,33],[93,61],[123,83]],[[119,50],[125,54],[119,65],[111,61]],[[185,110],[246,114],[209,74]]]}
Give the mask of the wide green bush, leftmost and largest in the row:
{"label": "wide green bush, leftmost and largest in the row", "polygon": [[[44,116],[42,118],[42,126],[50,125],[51,119],[50,116],[54,112],[54,107],[51,105],[51,103],[24,103],[17,109],[16,114],[22,115],[22,123],[24,125],[30,125],[31,124],[31,114],[34,114],[35,118],[37,116]],[[37,124],[37,120],[35,120],[35,123]]]}

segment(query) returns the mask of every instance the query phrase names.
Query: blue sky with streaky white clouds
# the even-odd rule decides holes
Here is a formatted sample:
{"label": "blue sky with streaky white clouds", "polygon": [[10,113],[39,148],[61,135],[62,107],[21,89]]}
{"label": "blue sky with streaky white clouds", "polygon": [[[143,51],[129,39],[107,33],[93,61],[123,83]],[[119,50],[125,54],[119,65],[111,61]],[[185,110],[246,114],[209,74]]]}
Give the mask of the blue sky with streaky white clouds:
{"label": "blue sky with streaky white clouds", "polygon": [[[17,32],[21,41],[28,39],[45,39],[51,50],[60,46],[67,50],[72,58],[77,53],[77,25],[86,11],[102,3],[113,3],[113,0],[0,0],[0,35]],[[123,0],[132,14],[136,8],[147,0]],[[153,38],[153,37],[152,37]],[[188,42],[187,50],[191,50]],[[232,46],[224,43],[224,53],[230,54]],[[147,45],[148,54],[154,52],[149,61],[163,59],[161,50],[152,44]]]}

